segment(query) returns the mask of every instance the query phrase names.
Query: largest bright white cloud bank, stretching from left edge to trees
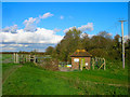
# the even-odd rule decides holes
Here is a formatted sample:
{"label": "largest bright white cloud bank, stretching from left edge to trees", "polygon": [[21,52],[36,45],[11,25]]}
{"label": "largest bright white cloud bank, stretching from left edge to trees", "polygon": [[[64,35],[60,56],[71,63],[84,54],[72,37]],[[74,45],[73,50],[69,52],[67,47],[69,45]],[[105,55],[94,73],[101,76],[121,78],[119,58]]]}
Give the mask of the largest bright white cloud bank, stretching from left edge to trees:
{"label": "largest bright white cloud bank, stretching from left edge to trees", "polygon": [[1,42],[15,43],[57,43],[63,37],[55,34],[53,30],[37,28],[34,32],[26,32],[23,29],[17,30],[17,33],[0,32]]}

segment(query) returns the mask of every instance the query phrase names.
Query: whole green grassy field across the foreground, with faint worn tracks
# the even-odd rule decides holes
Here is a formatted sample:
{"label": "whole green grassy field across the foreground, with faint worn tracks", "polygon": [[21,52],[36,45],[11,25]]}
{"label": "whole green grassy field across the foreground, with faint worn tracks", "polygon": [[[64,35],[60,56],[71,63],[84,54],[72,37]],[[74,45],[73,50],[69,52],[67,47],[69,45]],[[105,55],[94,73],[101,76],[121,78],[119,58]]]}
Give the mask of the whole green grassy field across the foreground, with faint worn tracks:
{"label": "whole green grassy field across the foreground, with faint worn tracks", "polygon": [[61,72],[18,64],[2,66],[3,95],[128,95],[127,68]]}

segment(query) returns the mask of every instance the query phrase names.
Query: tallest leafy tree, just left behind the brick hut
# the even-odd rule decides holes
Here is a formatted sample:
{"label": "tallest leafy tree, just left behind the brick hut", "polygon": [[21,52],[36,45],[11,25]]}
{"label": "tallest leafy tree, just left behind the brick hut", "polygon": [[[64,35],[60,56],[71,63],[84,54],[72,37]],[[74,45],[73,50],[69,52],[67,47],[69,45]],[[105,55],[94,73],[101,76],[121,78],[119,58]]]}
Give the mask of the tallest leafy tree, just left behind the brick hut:
{"label": "tallest leafy tree, just left behind the brick hut", "polygon": [[70,59],[69,55],[80,47],[80,34],[81,31],[75,27],[66,32],[63,40],[55,47],[61,60],[68,61]]}

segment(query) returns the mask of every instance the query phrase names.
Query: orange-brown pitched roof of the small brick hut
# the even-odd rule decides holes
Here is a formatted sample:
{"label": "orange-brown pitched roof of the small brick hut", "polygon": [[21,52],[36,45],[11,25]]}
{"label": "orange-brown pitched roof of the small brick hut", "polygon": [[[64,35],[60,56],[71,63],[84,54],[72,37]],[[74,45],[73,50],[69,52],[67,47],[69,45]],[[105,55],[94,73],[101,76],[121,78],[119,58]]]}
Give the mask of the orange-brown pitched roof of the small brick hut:
{"label": "orange-brown pitched roof of the small brick hut", "polygon": [[86,50],[77,50],[70,57],[91,57],[92,55]]}

